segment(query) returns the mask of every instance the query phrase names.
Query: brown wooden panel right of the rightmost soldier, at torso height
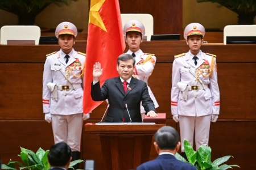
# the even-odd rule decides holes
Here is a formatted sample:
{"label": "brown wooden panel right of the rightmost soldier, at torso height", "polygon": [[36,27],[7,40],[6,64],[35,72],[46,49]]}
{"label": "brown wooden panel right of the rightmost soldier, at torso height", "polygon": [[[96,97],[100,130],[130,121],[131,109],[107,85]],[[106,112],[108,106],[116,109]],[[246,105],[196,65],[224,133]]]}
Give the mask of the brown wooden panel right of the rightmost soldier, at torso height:
{"label": "brown wooden panel right of the rightmost soldier, at torso height", "polygon": [[221,119],[256,119],[255,62],[217,63]]}

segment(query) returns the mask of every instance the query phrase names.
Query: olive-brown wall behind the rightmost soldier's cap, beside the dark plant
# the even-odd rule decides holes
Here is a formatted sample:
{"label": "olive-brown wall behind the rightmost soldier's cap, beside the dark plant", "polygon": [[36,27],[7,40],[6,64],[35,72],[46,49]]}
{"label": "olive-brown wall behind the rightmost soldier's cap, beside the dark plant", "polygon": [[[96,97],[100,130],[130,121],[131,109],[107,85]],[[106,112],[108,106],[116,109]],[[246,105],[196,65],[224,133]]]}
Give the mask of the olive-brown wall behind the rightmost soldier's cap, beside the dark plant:
{"label": "olive-brown wall behind the rightmost soldier's cap, beside the dark plant", "polygon": [[200,23],[206,29],[223,29],[225,25],[237,24],[237,14],[218,3],[183,0],[183,28],[189,23]]}

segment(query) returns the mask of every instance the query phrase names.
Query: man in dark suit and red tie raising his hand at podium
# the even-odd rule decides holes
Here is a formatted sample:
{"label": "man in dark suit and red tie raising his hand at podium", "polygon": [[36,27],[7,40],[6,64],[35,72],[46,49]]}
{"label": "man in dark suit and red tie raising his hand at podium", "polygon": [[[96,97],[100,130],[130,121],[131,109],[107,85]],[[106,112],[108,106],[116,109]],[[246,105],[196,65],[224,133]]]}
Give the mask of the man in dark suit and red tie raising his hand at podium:
{"label": "man in dark suit and red tie raising his hand at podium", "polygon": [[[108,99],[109,111],[105,122],[142,122],[141,103],[147,116],[158,116],[148,94],[147,84],[133,78],[135,59],[130,54],[122,54],[117,59],[118,77],[105,80],[100,87],[99,78],[103,69],[101,63],[93,65],[91,96],[94,101]],[[130,116],[129,116],[130,114]]]}

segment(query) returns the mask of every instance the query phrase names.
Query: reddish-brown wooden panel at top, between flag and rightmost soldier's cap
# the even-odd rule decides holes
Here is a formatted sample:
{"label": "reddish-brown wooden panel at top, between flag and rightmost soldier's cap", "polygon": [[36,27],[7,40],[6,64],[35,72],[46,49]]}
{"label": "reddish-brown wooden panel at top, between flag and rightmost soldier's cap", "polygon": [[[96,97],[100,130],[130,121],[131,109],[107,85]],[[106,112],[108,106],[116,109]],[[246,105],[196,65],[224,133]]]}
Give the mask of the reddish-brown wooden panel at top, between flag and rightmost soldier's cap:
{"label": "reddish-brown wooden panel at top, between flag and rightmost soldier's cap", "polygon": [[119,0],[119,5],[121,14],[151,14],[154,34],[182,33],[182,1]]}

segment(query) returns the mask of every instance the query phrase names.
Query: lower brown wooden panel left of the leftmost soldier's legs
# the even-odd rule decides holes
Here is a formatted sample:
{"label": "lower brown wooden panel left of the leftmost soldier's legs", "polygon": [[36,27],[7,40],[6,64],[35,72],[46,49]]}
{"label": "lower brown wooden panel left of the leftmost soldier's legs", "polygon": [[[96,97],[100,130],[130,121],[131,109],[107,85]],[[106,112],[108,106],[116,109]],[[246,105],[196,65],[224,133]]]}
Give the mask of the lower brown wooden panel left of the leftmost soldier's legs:
{"label": "lower brown wooden panel left of the leftmost soldier's legs", "polygon": [[17,156],[20,154],[20,147],[34,152],[41,147],[46,151],[54,143],[52,126],[44,120],[0,120],[0,134],[0,156],[3,164],[7,164],[10,159],[21,161]]}

